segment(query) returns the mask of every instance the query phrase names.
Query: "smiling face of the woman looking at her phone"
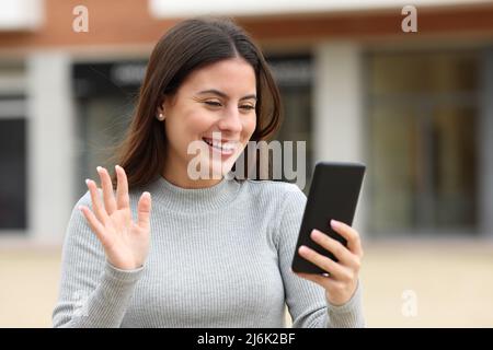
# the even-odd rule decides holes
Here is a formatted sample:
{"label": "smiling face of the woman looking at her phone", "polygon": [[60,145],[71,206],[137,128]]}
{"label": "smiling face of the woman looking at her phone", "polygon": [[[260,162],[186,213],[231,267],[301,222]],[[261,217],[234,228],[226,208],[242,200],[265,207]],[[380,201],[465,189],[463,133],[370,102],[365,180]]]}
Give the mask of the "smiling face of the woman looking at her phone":
{"label": "smiling face of the woman looking at her phone", "polygon": [[159,110],[168,140],[164,177],[186,187],[217,183],[255,130],[255,96],[254,70],[242,58],[193,71]]}

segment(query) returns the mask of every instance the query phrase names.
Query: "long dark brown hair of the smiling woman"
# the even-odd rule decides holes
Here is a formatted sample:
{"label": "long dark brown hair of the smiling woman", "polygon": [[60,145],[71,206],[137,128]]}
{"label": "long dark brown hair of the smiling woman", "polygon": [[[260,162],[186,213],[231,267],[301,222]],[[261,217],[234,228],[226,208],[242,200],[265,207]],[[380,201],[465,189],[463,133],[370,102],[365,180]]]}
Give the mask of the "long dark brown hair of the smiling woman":
{"label": "long dark brown hair of the smiling woman", "polygon": [[[156,115],[164,96],[173,96],[192,71],[238,56],[252,66],[256,79],[256,127],[250,141],[267,140],[276,132],[282,113],[279,91],[257,45],[230,18],[185,20],[171,27],[154,46],[135,116],[112,158],[125,170],[130,189],[146,186],[163,171],[167,140],[163,124]],[[240,159],[249,172],[248,156]],[[255,163],[259,166],[259,158]],[[112,180],[116,186],[116,174]]]}

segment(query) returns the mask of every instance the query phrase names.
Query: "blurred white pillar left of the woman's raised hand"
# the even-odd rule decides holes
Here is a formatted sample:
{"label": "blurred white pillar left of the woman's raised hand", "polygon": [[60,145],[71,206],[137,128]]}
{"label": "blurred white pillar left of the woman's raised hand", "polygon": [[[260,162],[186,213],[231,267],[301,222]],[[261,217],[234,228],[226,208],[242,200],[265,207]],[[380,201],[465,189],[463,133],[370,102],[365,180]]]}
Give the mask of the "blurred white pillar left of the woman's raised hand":
{"label": "blurred white pillar left of the woman's raised hand", "polygon": [[62,242],[73,208],[74,126],[70,58],[39,51],[27,58],[28,224],[41,244]]}

